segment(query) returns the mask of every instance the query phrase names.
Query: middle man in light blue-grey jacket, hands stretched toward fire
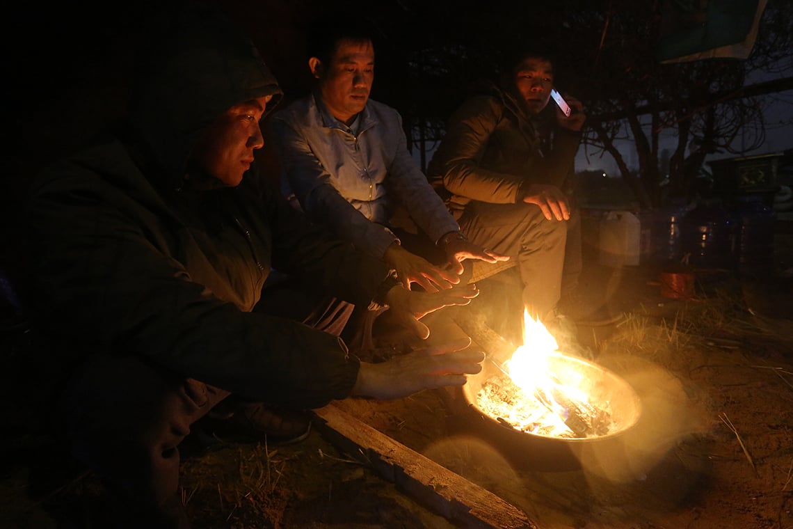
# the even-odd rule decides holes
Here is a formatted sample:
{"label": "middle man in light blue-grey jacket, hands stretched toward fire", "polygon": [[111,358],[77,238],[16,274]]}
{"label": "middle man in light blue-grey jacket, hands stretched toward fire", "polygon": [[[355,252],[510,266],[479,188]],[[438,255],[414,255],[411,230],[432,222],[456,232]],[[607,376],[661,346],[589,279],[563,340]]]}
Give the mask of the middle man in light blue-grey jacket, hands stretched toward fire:
{"label": "middle man in light blue-grey jacket, hands stretched toward fire", "polygon": [[508,257],[460,232],[408,151],[400,114],[370,99],[370,28],[351,13],[321,16],[313,25],[314,90],[270,120],[282,193],[335,236],[387,263],[403,286],[450,289],[461,282],[464,259]]}

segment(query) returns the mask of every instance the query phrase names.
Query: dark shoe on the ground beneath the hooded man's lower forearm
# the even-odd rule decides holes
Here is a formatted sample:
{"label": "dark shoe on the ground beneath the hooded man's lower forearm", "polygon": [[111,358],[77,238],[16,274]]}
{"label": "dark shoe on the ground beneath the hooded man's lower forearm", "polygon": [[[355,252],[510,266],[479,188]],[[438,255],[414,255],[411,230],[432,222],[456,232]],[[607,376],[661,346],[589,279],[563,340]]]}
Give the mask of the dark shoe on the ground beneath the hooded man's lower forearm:
{"label": "dark shoe on the ground beneath the hooded man's lower forearm", "polygon": [[265,441],[274,446],[300,443],[311,432],[311,419],[304,412],[262,402],[238,402],[230,408],[231,413],[227,406],[205,417],[204,427],[221,439]]}

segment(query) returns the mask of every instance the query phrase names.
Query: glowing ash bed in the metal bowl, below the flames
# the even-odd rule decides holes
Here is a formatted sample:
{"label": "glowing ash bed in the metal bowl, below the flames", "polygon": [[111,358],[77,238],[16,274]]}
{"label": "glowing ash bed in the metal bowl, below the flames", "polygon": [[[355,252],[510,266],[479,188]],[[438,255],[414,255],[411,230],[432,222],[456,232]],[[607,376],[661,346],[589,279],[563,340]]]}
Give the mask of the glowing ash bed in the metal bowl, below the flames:
{"label": "glowing ash bed in the metal bowl, below the flames", "polygon": [[527,395],[507,375],[489,378],[477,393],[477,406],[501,424],[534,435],[580,439],[606,435],[612,427],[608,405],[569,406],[567,420],[552,412],[538,398]]}

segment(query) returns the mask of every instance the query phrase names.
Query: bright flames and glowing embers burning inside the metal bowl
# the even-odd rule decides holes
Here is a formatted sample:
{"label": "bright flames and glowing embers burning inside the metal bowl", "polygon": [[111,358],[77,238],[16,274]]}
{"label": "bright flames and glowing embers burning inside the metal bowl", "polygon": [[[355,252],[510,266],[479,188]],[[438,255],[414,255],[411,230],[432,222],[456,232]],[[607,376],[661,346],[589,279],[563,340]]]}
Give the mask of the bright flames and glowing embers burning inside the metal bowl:
{"label": "bright flames and glowing embers burning inside the metal bowl", "polygon": [[554,336],[528,313],[523,320],[523,345],[498,366],[503,374],[482,385],[477,406],[502,424],[536,435],[583,438],[609,433],[609,402],[590,402],[586,388],[591,381],[584,372],[552,362],[561,355]]}

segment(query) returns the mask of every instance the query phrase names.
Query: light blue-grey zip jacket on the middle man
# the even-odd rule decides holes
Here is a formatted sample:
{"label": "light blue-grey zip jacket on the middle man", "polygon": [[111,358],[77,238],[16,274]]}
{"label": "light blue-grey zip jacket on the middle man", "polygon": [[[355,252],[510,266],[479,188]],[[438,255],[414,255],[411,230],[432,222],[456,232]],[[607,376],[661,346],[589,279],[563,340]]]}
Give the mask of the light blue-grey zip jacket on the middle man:
{"label": "light blue-grey zip jacket on the middle man", "polygon": [[382,258],[397,236],[388,228],[403,209],[433,242],[458,231],[457,221],[407,148],[402,119],[369,100],[358,135],[310,94],[270,120],[282,167],[282,193],[315,222]]}

